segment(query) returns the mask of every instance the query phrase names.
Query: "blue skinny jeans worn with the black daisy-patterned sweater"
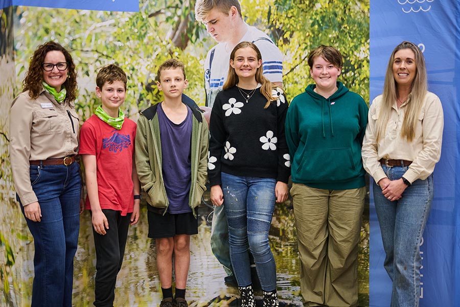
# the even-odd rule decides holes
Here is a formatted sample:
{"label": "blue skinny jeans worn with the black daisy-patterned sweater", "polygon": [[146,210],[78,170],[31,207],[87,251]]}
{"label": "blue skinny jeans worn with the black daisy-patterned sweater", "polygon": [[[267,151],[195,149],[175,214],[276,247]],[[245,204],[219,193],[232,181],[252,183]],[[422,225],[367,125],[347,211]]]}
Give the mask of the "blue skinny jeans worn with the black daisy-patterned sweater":
{"label": "blue skinny jeans worn with the black daisy-patterned sweater", "polygon": [[277,270],[268,244],[275,203],[275,179],[221,173],[223,206],[228,222],[230,258],[238,286],[251,284],[249,249],[262,290],[277,288]]}

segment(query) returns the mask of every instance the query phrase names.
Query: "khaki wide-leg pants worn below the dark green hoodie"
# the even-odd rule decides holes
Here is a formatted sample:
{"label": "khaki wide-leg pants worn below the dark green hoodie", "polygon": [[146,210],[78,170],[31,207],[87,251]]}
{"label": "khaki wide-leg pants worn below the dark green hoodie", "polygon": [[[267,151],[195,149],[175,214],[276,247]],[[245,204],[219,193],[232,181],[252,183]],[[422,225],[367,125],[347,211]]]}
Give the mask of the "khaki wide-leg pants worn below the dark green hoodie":
{"label": "khaki wide-leg pants worn below the dark green hoodie", "polygon": [[304,305],[357,306],[365,187],[324,190],[293,183],[290,192]]}

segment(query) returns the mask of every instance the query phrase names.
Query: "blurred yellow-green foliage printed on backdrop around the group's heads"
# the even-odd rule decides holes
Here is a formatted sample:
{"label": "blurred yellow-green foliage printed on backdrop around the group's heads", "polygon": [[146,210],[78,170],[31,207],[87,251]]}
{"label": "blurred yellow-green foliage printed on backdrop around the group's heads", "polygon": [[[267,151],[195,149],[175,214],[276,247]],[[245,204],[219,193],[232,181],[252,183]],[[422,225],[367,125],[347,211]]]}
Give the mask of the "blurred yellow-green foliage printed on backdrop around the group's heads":
{"label": "blurred yellow-green foliage printed on backdrop around the group's heads", "polygon": [[[18,7],[18,80],[24,77],[36,46],[57,40],[77,62],[77,105],[83,119],[98,105],[95,74],[111,62],[129,75],[125,105],[129,116],[162,100],[154,82],[156,68],[170,57],[186,63],[190,83],[186,93],[203,104],[203,61],[216,42],[195,21],[194,5],[193,0],[141,0],[140,13]],[[322,43],[342,52],[340,80],[369,101],[369,0],[243,0],[241,5],[247,23],[265,29],[285,54],[283,74],[289,100],[312,82],[306,57]]]}

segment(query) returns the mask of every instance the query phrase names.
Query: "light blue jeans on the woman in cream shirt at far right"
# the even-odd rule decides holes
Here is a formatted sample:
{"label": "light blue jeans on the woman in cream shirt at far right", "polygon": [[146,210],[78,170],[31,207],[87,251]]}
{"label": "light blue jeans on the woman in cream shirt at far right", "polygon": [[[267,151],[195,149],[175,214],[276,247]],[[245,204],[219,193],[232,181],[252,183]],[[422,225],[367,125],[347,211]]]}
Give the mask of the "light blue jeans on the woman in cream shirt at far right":
{"label": "light blue jeans on the woman in cream shirt at far right", "polygon": [[[398,180],[407,166],[386,167],[389,180]],[[374,202],[385,250],[384,267],[393,281],[392,307],[417,307],[420,300],[420,240],[433,202],[433,176],[416,180],[399,201],[390,202],[374,182]]]}

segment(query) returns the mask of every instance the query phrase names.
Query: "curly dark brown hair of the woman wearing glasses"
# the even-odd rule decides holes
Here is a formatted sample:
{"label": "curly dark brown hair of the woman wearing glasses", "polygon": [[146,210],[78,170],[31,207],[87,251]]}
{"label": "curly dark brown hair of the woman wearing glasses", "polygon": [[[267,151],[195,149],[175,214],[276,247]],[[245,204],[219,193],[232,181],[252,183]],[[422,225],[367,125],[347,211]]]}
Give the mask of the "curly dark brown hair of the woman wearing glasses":
{"label": "curly dark brown hair of the woman wearing glasses", "polygon": [[77,72],[75,71],[75,64],[70,53],[65,50],[64,47],[59,45],[59,43],[54,41],[45,42],[43,45],[37,47],[34,52],[34,55],[30,58],[29,70],[26,73],[22,85],[24,88],[22,92],[29,91],[29,96],[32,99],[37,99],[40,91],[43,87],[41,82],[43,81],[43,71],[41,64],[48,52],[50,51],[60,51],[64,54],[65,61],[68,64],[68,73],[67,79],[62,84],[67,91],[65,98],[68,101],[74,101],[77,97]]}

